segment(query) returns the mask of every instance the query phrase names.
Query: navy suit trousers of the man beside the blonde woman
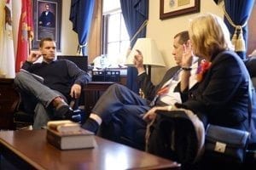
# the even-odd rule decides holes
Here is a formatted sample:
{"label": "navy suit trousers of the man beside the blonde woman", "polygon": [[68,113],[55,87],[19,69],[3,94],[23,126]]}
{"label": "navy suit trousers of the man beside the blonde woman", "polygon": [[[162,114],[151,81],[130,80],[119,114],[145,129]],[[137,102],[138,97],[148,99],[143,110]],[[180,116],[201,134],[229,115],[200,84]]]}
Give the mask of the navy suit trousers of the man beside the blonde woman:
{"label": "navy suit trousers of the man beside the blonde woman", "polygon": [[113,84],[102,94],[92,113],[102,118],[100,136],[121,143],[129,141],[131,146],[144,148],[147,123],[141,115],[149,109],[146,99],[125,86]]}

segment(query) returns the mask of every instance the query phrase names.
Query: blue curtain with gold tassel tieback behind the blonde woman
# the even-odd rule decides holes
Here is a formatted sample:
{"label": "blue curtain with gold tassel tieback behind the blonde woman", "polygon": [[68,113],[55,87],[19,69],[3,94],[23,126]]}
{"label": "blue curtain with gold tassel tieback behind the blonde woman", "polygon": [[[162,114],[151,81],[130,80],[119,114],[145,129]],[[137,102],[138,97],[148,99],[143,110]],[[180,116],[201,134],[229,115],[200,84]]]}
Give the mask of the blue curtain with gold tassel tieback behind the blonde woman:
{"label": "blue curtain with gold tassel tieback behind the blonde woman", "polygon": [[247,20],[252,13],[253,3],[254,0],[224,0],[224,22],[230,30],[236,53],[241,59],[246,59]]}

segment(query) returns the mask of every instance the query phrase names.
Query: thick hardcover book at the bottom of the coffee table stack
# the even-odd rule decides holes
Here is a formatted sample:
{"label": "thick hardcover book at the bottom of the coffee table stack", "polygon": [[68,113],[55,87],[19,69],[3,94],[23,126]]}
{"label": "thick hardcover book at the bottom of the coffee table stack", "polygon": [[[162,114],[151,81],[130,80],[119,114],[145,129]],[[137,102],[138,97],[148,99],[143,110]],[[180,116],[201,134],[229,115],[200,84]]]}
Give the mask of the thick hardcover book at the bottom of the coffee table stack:
{"label": "thick hardcover book at the bottom of the coffee table stack", "polygon": [[79,131],[58,132],[47,128],[46,139],[49,144],[60,150],[94,148],[96,145],[94,133],[79,128]]}

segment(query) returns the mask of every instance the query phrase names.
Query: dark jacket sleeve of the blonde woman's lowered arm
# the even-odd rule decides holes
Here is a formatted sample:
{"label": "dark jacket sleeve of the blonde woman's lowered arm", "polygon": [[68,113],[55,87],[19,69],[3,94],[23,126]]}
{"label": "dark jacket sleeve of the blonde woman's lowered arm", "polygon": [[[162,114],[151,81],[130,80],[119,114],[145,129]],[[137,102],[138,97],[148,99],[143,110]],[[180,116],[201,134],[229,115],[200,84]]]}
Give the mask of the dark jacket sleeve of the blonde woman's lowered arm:
{"label": "dark jacket sleeve of the blonde woman's lowered arm", "polygon": [[[242,81],[241,63],[234,57],[224,54],[212,62],[198,88],[183,103],[191,111],[211,111],[224,108],[237,92]],[[247,87],[245,87],[247,88]]]}

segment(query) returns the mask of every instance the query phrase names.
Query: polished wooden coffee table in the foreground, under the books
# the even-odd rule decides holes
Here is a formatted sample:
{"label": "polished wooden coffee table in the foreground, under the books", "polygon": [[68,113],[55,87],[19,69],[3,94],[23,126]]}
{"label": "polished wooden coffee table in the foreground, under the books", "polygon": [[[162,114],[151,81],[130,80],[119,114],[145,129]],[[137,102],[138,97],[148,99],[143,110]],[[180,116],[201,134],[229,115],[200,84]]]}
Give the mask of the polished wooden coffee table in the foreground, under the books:
{"label": "polished wooden coffee table in the foreground, under the books", "polygon": [[0,153],[20,169],[179,169],[173,161],[95,139],[94,149],[58,150],[47,143],[46,130],[1,131]]}

